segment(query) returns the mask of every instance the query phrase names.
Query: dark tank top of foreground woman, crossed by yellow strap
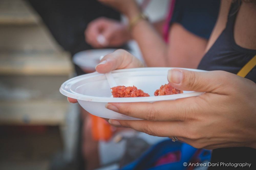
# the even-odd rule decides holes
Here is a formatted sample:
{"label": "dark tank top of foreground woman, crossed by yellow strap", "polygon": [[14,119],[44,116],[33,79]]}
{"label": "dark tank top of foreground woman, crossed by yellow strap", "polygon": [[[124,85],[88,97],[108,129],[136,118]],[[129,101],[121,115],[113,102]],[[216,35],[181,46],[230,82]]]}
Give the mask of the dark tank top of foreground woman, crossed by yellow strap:
{"label": "dark tank top of foreground woman, crossed by yellow strap", "polygon": [[[222,31],[216,42],[202,58],[198,69],[201,70],[224,70],[234,74],[248,63],[256,55],[256,50],[243,48],[234,40],[234,23],[239,10],[240,1],[231,5],[226,28]],[[256,82],[256,67],[246,78]]]}

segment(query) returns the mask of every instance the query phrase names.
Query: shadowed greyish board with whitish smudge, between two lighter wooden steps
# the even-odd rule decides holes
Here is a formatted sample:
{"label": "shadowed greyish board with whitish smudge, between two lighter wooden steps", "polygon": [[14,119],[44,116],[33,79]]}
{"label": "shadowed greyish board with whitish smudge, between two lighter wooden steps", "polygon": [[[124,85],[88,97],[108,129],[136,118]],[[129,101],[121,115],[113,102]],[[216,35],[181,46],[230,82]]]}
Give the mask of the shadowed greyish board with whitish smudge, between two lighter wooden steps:
{"label": "shadowed greyish board with whitish smudge, between two lighter wooden steps", "polygon": [[59,92],[68,76],[0,75],[0,101],[17,100],[66,100]]}

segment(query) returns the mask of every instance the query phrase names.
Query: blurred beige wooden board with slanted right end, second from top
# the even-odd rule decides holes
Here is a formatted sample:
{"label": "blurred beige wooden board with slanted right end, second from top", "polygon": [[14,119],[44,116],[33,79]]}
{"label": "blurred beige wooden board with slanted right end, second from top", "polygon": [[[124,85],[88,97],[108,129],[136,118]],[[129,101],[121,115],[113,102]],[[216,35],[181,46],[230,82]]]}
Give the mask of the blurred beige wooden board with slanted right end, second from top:
{"label": "blurred beige wooden board with slanted right end, second from top", "polygon": [[1,26],[0,51],[63,51],[44,25]]}

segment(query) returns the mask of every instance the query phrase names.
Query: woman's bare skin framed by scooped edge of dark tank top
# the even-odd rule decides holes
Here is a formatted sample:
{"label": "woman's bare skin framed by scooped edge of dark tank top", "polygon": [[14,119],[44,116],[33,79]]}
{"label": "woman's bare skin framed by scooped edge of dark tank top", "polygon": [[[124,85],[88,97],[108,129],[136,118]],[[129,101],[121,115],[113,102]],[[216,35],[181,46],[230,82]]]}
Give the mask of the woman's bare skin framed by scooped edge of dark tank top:
{"label": "woman's bare skin framed by scooped edge of dark tank top", "polygon": [[242,3],[234,25],[235,42],[244,48],[256,49],[256,4]]}

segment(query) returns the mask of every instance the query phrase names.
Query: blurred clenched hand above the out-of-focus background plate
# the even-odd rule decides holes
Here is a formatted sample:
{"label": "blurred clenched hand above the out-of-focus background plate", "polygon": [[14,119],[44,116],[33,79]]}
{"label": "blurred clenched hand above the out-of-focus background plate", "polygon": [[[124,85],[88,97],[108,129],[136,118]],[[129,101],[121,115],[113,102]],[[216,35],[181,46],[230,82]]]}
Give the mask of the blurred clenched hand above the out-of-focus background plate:
{"label": "blurred clenched hand above the out-of-focus background plate", "polygon": [[130,39],[127,26],[108,18],[98,18],[84,31],[86,42],[95,48],[118,47]]}

